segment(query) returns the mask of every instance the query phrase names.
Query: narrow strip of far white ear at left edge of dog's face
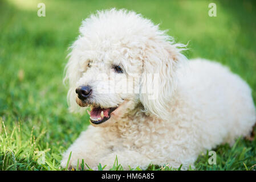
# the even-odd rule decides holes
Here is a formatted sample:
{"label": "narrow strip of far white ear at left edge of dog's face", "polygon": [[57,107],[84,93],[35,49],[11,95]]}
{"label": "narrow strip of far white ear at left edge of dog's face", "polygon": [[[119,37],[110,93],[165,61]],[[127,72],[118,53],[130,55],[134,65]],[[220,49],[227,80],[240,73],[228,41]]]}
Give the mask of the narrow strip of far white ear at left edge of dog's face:
{"label": "narrow strip of far white ear at left edge of dog's face", "polygon": [[64,84],[68,82],[68,94],[67,94],[67,102],[69,106],[69,110],[71,112],[80,111],[78,104],[76,104],[76,82],[82,76],[82,72],[80,71],[79,64],[79,53],[76,51],[76,42],[69,48],[71,52],[68,54],[68,63],[65,67],[64,71]]}

